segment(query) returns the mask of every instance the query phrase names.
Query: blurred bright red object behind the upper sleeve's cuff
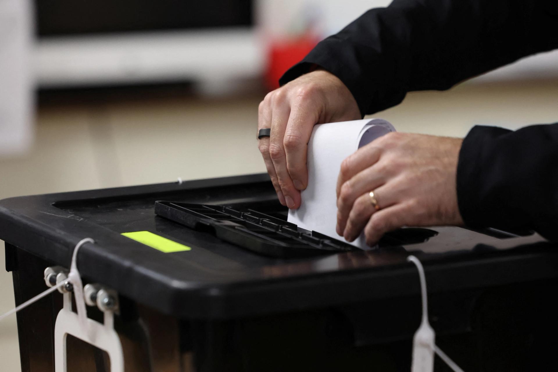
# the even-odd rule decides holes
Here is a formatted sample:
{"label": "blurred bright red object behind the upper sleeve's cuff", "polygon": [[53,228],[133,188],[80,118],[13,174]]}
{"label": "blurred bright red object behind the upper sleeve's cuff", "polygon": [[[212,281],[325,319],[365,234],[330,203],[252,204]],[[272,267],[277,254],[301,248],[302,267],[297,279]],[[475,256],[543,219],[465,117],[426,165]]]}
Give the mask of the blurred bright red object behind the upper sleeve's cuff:
{"label": "blurred bright red object behind the upper sleeve's cuff", "polygon": [[302,60],[318,44],[312,35],[273,40],[268,49],[266,85],[270,90],[279,88],[279,79],[293,65]]}

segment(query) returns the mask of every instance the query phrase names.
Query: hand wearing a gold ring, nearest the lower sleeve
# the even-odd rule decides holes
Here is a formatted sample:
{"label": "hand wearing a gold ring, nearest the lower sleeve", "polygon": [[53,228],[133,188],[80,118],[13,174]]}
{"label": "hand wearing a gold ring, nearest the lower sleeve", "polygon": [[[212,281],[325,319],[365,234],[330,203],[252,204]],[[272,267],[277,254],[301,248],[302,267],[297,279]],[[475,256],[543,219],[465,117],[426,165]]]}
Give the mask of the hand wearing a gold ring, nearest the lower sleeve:
{"label": "hand wearing a gold ring, nearest the lower sleeve", "polygon": [[341,163],[337,233],[353,241],[364,229],[372,246],[403,226],[462,225],[455,183],[461,142],[392,132],[358,149]]}

